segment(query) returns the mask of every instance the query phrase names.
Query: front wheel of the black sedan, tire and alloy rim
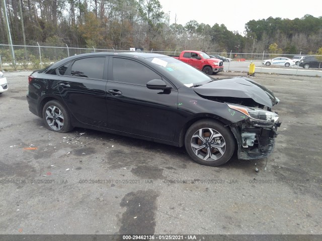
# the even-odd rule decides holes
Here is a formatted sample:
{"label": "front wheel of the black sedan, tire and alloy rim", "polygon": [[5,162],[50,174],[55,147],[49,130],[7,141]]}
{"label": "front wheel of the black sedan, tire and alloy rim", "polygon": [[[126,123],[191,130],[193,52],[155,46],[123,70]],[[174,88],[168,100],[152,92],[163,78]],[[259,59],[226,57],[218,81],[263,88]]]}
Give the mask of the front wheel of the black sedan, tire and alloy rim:
{"label": "front wheel of the black sedan, tire and alloy rim", "polygon": [[229,128],[212,119],[204,119],[188,129],[185,147],[195,162],[206,166],[219,166],[231,158],[235,150],[235,140]]}

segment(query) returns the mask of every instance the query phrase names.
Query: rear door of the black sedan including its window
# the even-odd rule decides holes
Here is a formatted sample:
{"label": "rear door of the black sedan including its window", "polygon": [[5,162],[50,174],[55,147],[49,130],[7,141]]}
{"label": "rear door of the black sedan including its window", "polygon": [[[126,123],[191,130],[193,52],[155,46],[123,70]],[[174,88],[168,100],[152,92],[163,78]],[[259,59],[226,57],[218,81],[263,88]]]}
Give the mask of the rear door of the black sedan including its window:
{"label": "rear door of the black sedan including its window", "polygon": [[108,57],[76,59],[58,68],[59,93],[81,123],[107,128],[106,83]]}

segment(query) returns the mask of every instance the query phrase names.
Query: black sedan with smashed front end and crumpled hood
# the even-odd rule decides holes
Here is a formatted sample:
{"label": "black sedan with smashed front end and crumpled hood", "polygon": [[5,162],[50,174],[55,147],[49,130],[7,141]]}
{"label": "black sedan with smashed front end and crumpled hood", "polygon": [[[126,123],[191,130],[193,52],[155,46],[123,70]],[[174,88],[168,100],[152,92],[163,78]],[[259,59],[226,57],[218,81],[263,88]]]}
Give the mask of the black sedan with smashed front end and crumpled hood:
{"label": "black sedan with smashed front end and crumpled hood", "polygon": [[213,79],[151,53],[68,57],[28,77],[32,113],[55,132],[100,130],[177,147],[218,166],[267,157],[280,126],[274,94],[247,77]]}

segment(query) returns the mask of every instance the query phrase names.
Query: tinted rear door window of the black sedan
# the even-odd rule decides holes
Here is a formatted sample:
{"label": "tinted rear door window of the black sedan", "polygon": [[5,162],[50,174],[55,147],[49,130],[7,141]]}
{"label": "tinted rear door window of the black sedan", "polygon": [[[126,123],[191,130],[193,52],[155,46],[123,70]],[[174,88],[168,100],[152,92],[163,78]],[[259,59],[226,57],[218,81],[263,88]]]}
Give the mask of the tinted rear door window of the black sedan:
{"label": "tinted rear door window of the black sedan", "polygon": [[103,79],[105,57],[93,57],[76,60],[72,66],[70,75],[91,79]]}

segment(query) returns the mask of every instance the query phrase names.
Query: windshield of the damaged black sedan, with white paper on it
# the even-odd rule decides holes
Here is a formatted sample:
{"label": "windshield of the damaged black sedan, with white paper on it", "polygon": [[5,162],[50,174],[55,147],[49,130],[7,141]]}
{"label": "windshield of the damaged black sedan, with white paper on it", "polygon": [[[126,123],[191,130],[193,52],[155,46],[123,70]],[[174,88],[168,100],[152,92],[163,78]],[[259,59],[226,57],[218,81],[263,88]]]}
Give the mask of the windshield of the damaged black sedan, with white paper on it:
{"label": "windshield of the damaged black sedan, with white paper on it", "polygon": [[169,74],[187,87],[205,84],[212,80],[203,72],[200,72],[189,64],[172,57],[148,58],[146,60],[150,61],[157,68],[166,70]]}

